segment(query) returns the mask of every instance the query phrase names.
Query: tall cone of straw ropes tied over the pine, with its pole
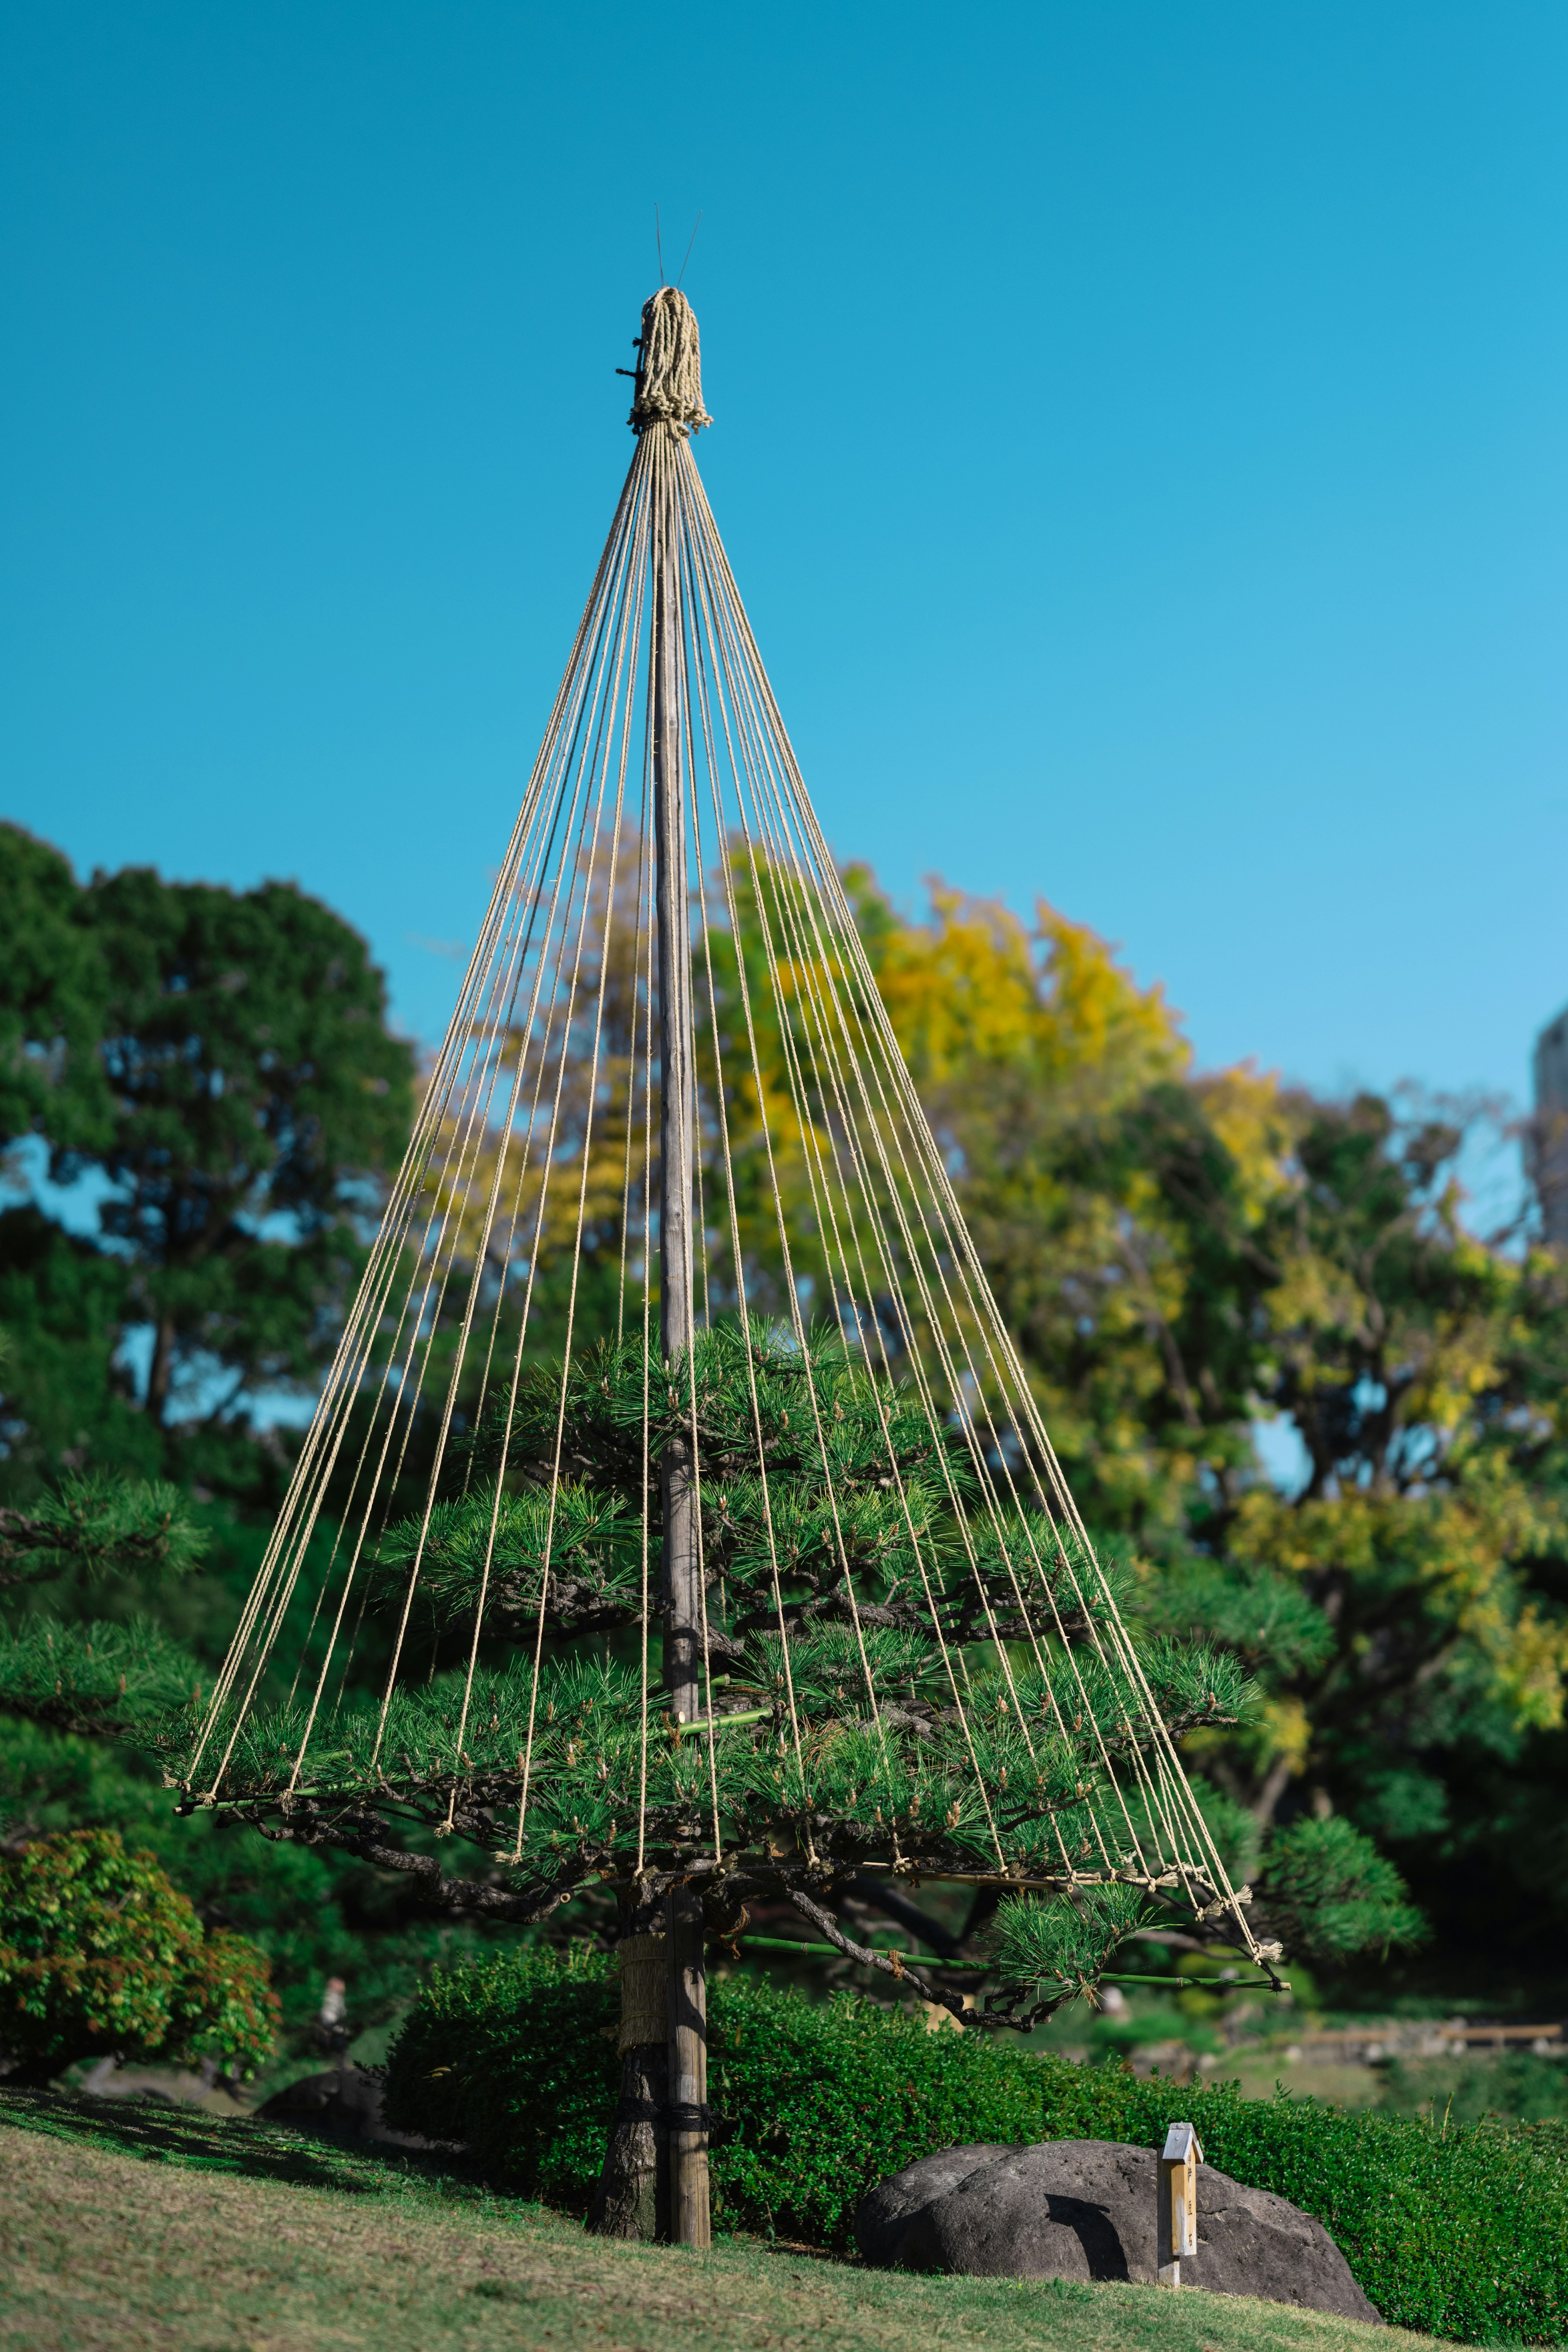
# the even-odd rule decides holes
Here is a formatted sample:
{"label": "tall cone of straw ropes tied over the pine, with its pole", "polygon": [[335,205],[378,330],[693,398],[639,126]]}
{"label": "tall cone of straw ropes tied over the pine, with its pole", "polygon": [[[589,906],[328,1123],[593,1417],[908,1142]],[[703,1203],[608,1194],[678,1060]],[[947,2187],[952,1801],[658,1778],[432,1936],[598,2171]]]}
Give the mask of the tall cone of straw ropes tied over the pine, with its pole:
{"label": "tall cone of straw ropes tied over the pine, with its pole", "polygon": [[[703,1938],[748,1900],[978,2025],[1091,1987],[1152,1910],[1272,1980],[1279,1947],[1178,1755],[1237,1670],[1133,1637],[1060,1472],[703,494],[672,287],[639,353],[637,454],[181,1788],[496,1919],[618,1886],[644,2042],[663,1940],[670,2227],[701,2244]],[[999,1992],[849,1938],[867,1867],[1006,1891]]]}

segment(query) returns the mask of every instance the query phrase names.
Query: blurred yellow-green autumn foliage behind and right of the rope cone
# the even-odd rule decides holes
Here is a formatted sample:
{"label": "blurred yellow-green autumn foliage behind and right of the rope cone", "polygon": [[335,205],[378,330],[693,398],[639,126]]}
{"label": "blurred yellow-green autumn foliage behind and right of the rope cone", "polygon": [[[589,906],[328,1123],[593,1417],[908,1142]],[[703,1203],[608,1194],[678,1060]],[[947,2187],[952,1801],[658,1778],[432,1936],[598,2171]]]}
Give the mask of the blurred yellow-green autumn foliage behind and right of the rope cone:
{"label": "blurred yellow-green autumn foliage behind and right of the rope cone", "polygon": [[[811,1157],[832,1148],[835,1112],[811,1103],[802,1127],[797,1023],[830,990],[804,922],[792,957],[766,964],[752,887],[738,870],[726,889],[715,882],[696,971],[703,1218],[717,1263],[733,1216],[748,1296],[778,1310],[783,1202],[799,1296],[820,1310]],[[790,884],[764,887],[788,929]],[[489,1254],[548,1275],[581,1237],[614,1291],[616,1265],[639,1265],[658,1110],[635,1080],[646,1007],[625,882],[602,875],[595,889],[597,1065],[583,1009],[597,1004],[599,962],[588,960],[576,1000],[552,1011],[555,1035],[581,1040],[564,1070],[538,1028],[517,1030],[508,1080],[524,1105],[538,1091],[536,1110],[451,1134],[428,1209],[468,1265]],[[1368,1757],[1441,1745],[1455,1724],[1479,1738],[1493,1738],[1488,1724],[1509,1738],[1559,1726],[1568,1628],[1519,1564],[1568,1536],[1509,1432],[1561,1435],[1561,1383],[1530,1388],[1521,1371],[1561,1277],[1465,1230],[1453,1138],[1432,1127],[1410,1141],[1389,1105],[1324,1103],[1253,1063],[1194,1070],[1164,990],[1044,901],[1023,920],[938,882],[924,920],[905,920],[865,868],[846,889],[1091,1526],[1145,1552],[1154,1597],[1159,1562],[1197,1543],[1218,1576],[1281,1578],[1324,1611],[1326,1646],[1265,1668],[1234,1785],[1272,1804],[1291,1780],[1321,1795],[1335,1773],[1354,1780]],[[839,1240],[853,1247],[853,1232]],[[590,1331],[590,1310],[578,1315]],[[1253,1430],[1272,1414],[1302,1432],[1302,1494],[1260,1475]]]}

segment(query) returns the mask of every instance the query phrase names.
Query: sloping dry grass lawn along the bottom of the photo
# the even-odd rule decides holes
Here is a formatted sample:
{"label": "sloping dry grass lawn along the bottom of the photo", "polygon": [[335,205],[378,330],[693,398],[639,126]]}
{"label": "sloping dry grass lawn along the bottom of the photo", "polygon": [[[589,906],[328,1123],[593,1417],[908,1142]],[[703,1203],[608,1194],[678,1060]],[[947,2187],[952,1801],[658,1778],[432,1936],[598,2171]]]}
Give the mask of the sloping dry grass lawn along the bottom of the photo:
{"label": "sloping dry grass lawn along the bottom of the photo", "polygon": [[1279,2303],[616,2246],[411,2159],[0,2096],[0,2345],[28,2352],[1403,2352]]}

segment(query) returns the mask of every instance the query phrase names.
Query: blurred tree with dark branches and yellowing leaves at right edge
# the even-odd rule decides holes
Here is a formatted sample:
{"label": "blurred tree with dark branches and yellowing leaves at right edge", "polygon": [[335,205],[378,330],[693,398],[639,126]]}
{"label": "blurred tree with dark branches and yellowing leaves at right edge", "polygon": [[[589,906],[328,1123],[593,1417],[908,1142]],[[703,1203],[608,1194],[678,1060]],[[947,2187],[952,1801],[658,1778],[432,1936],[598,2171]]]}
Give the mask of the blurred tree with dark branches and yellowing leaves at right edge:
{"label": "blurred tree with dark branches and yellowing leaves at right edge", "polygon": [[[1544,1797],[1561,1750],[1568,1282],[1552,1254],[1467,1230],[1460,1122],[1366,1096],[1293,1108],[1300,1176],[1260,1235],[1276,1279],[1258,1388],[1307,1468],[1295,1496],[1232,1496],[1211,1536],[1241,1581],[1314,1618],[1232,1785],[1265,1818],[1300,1792],[1392,1839],[1465,1933],[1469,1872],[1507,1884],[1497,1832],[1530,1811],[1521,1766]],[[1528,1837],[1509,1851],[1540,1863]],[[1514,1879],[1493,1933],[1521,1893]]]}

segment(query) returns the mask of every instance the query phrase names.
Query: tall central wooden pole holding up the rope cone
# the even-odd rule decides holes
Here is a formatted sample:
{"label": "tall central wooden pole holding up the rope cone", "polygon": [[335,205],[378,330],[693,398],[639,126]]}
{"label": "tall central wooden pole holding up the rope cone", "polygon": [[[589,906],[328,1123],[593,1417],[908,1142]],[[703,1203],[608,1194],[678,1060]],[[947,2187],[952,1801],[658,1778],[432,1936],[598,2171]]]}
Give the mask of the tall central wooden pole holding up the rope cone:
{"label": "tall central wooden pole holding up the rope cone", "polygon": [[[658,861],[658,1343],[672,1367],[693,1329],[693,1021],[686,908],[686,809],[679,722],[679,579],[675,468],[679,445],[651,426],[654,449],[654,840]],[[686,1390],[682,1385],[682,1404]],[[703,1583],[691,1477],[691,1439],[663,1458],[665,1689],[679,1724],[701,1715]],[[691,1886],[668,1896],[670,1959],[670,2220],[679,2246],[708,2246],[708,1978],[703,1900]]]}

